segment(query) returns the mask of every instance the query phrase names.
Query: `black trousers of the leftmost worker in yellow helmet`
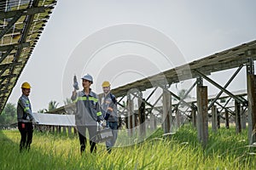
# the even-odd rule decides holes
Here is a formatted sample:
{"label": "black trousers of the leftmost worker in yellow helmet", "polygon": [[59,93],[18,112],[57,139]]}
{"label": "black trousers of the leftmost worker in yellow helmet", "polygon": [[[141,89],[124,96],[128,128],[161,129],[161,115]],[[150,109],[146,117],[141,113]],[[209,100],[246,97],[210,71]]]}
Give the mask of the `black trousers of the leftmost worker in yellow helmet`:
{"label": "black trousers of the leftmost worker in yellow helmet", "polygon": [[30,144],[32,144],[33,137],[33,125],[32,122],[18,122],[18,128],[20,131],[20,152],[22,150],[29,150]]}

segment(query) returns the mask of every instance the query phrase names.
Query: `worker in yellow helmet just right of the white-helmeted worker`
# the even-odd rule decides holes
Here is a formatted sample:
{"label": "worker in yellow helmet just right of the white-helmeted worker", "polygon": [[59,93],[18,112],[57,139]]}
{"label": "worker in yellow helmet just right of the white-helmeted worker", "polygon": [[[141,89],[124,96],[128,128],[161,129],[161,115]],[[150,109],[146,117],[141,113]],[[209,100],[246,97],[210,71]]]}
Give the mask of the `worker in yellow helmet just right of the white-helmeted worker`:
{"label": "worker in yellow helmet just right of the white-helmeted worker", "polygon": [[107,127],[112,129],[113,138],[106,141],[108,153],[111,153],[112,147],[115,144],[118,134],[118,114],[117,114],[117,101],[113,94],[110,92],[110,83],[108,81],[102,82],[102,116],[106,120]]}

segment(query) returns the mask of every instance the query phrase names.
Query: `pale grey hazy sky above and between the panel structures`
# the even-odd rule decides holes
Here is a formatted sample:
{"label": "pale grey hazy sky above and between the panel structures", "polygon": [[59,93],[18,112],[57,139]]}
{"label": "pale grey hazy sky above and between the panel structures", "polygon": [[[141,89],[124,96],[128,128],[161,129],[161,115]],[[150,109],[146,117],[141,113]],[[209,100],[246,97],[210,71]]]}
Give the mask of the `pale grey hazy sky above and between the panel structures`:
{"label": "pale grey hazy sky above and between the panel structures", "polygon": [[[79,79],[90,73],[99,94],[106,79],[117,88],[253,41],[255,7],[253,0],[58,0],[8,102],[16,104],[27,81],[37,112],[51,100],[63,105],[74,74]],[[211,78],[223,85],[234,71]],[[243,69],[229,89],[245,88]],[[209,88],[209,94],[217,92]]]}

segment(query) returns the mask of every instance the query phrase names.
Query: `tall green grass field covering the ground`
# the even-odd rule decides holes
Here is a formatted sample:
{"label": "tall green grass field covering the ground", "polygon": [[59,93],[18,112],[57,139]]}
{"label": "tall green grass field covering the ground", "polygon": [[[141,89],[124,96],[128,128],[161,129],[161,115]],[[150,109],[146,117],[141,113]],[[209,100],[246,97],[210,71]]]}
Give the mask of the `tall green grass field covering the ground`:
{"label": "tall green grass field covering the ground", "polygon": [[19,131],[0,131],[0,169],[256,169],[256,148],[248,147],[247,131],[236,134],[235,127],[209,129],[206,149],[189,126],[168,138],[159,129],[143,143],[114,148],[110,155],[102,144],[90,154],[88,144],[80,156],[77,136],[35,132],[31,150],[21,154],[19,143]]}

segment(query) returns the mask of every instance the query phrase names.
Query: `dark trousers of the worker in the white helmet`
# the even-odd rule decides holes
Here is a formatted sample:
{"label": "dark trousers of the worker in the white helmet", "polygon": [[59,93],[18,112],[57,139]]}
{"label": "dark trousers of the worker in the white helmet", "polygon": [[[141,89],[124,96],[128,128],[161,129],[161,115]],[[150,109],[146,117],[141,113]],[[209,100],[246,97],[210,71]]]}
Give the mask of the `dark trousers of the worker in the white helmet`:
{"label": "dark trousers of the worker in the white helmet", "polygon": [[96,126],[77,126],[79,130],[79,141],[80,141],[80,152],[81,154],[84,152],[86,147],[86,128],[89,132],[89,140],[90,140],[90,153],[96,151]]}

